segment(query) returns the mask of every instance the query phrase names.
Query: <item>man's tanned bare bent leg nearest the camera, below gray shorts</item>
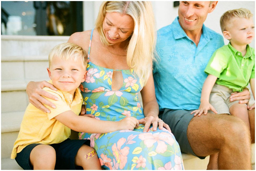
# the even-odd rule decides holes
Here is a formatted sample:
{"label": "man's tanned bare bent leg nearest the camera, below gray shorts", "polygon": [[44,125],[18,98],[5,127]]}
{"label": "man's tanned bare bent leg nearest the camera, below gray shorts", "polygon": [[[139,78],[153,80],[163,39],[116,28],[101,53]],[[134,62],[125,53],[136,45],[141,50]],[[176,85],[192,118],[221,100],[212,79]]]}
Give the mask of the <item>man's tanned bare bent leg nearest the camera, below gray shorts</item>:
{"label": "man's tanned bare bent leg nearest the camera, below gray shorts", "polygon": [[196,116],[187,137],[197,156],[219,153],[218,169],[251,169],[249,130],[241,119],[225,114]]}

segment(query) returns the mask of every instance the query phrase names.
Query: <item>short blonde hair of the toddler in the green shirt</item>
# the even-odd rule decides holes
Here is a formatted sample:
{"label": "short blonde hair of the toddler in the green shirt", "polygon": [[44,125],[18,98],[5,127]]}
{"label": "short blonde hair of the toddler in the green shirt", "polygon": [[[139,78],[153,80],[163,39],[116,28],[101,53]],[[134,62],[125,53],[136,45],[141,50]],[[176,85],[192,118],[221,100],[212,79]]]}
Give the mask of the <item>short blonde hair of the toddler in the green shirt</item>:
{"label": "short blonde hair of the toddler in the green shirt", "polygon": [[225,12],[220,19],[221,31],[227,31],[228,24],[231,24],[235,18],[246,18],[251,19],[253,14],[250,12],[249,9],[239,8],[239,9],[232,9]]}

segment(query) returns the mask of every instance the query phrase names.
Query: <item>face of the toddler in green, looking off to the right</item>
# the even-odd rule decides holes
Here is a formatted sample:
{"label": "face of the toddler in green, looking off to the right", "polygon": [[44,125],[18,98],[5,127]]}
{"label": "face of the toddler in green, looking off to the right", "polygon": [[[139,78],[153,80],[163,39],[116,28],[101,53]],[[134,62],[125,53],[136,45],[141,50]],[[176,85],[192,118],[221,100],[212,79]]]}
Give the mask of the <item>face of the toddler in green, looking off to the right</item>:
{"label": "face of the toddler in green, looking off to the right", "polygon": [[231,44],[247,45],[254,38],[254,23],[253,19],[236,18],[227,28],[231,36]]}

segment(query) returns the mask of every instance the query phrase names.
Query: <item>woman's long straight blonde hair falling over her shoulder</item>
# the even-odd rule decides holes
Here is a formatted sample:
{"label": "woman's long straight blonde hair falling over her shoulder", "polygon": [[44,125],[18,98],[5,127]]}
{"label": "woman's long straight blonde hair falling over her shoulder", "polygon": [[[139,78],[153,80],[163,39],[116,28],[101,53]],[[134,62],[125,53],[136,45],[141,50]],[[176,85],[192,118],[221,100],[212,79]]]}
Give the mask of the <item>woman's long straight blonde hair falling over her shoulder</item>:
{"label": "woman's long straight blonde hair falling over her shoulder", "polygon": [[[150,2],[147,1],[105,1],[101,4],[96,19],[96,29],[105,45],[112,45],[106,40],[102,24],[106,13],[118,12],[128,14],[133,18],[134,30],[127,47],[127,64],[130,70],[140,78],[145,85],[152,72],[155,60],[156,28],[154,13]],[[142,86],[143,86],[142,85]]]}

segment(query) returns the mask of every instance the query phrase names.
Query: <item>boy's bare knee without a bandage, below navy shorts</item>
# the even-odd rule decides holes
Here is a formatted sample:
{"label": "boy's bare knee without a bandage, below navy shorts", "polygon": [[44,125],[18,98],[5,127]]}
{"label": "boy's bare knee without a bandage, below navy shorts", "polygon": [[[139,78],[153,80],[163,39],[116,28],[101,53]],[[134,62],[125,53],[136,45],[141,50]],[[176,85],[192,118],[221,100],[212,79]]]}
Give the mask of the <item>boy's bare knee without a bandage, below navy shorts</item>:
{"label": "boy's bare knee without a bandage, below navy shorts", "polygon": [[30,153],[30,162],[34,170],[54,170],[56,163],[55,149],[44,144],[35,146]]}

